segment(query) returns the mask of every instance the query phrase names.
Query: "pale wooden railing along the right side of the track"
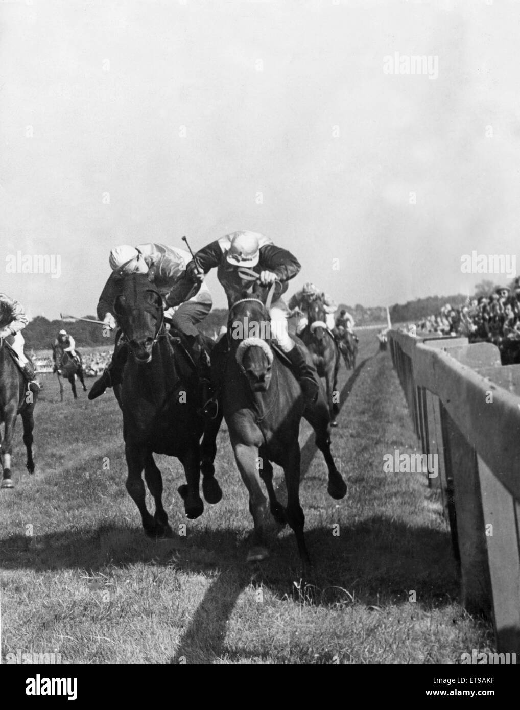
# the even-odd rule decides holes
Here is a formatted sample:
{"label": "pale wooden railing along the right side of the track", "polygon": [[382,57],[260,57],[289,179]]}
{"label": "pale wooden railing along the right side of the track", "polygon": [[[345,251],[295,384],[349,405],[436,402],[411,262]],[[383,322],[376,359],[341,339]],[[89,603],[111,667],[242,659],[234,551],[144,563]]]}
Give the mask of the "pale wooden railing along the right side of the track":
{"label": "pale wooden railing along the right side of the track", "polygon": [[490,343],[389,331],[413,429],[437,454],[462,599],[491,616],[500,653],[520,653],[520,365]]}

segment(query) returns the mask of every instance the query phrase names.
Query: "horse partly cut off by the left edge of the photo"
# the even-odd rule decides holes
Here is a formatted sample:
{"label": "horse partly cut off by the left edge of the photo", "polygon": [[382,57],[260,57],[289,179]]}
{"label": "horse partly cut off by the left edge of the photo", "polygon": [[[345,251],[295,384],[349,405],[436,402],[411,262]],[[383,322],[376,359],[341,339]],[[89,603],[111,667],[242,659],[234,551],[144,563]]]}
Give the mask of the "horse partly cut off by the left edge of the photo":
{"label": "horse partly cut off by the left edge of the photo", "polygon": [[[4,423],[4,441],[1,444],[3,454],[3,478],[0,488],[13,488],[11,479],[11,452],[13,429],[16,417],[21,415],[23,422],[23,443],[27,450],[27,470],[34,473],[33,428],[34,407],[38,399],[38,390],[28,388],[28,382],[13,361],[9,345],[0,338],[0,424]],[[1,435],[0,435],[1,440]]]}

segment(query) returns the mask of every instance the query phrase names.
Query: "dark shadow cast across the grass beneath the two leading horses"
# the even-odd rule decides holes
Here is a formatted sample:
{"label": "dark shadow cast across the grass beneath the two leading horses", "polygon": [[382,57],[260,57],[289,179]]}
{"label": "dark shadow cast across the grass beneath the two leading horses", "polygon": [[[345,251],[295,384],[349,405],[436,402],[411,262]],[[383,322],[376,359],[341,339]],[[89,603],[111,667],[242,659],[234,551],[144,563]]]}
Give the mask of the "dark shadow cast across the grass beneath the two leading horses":
{"label": "dark shadow cast across the grass beneath the two leading horses", "polygon": [[[370,359],[362,361],[345,383],[340,406]],[[311,434],[302,448],[302,476],[317,452],[313,439]],[[222,657],[227,621],[239,595],[251,584],[262,585],[278,597],[287,595],[320,606],[357,602],[381,608],[407,601],[411,590],[416,601],[428,607],[445,605],[457,597],[455,564],[446,563],[451,559],[448,532],[412,528],[381,516],[350,528],[342,526],[338,537],[332,535],[330,526],[312,528],[305,537],[315,567],[303,584],[294,536],[279,532],[273,528],[272,557],[252,566],[244,562],[246,542],[229,528],[197,530],[187,538],[152,542],[136,528],[106,525],[97,530],[0,540],[0,567],[32,567],[41,572],[80,568],[95,576],[106,572],[109,565],[126,567],[142,562],[186,572],[217,573],[180,639],[172,663],[183,657],[192,663]]]}

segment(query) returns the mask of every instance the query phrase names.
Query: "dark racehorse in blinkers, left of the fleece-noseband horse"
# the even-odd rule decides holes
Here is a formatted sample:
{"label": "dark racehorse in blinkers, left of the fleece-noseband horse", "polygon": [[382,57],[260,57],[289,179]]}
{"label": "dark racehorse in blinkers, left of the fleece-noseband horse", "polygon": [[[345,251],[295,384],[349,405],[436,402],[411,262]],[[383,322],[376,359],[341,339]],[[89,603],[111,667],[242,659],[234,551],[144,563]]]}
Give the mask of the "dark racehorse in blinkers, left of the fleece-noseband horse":
{"label": "dark racehorse in blinkers, left of the fleece-noseband horse", "polygon": [[[188,518],[198,518],[204,510],[199,494],[201,471],[205,500],[218,503],[222,498],[213,465],[222,415],[205,420],[198,413],[195,365],[181,339],[170,337],[166,330],[161,294],[146,274],[126,276],[114,313],[126,338],[120,346],[127,351],[121,383],[114,386],[123,413],[126,490],[139,508],[146,534],[171,537],[162,501],[163,480],[153,453],[175,456],[183,464],[187,484],[178,492]],[[212,346],[209,338],[207,346]],[[155,501],[153,516],[146,508],[143,469]]]}

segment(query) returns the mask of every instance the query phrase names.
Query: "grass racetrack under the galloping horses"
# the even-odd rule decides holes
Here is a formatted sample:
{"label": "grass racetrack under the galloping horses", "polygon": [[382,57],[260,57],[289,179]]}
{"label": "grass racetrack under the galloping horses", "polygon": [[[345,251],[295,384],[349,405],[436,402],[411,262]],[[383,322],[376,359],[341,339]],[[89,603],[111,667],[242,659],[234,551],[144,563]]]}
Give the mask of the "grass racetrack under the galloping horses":
{"label": "grass racetrack under the galloping horses", "polygon": [[[60,405],[48,376],[36,407],[37,472],[23,472],[18,422],[16,488],[0,493],[2,657],[21,650],[59,652],[62,663],[454,663],[473,648],[494,650],[490,626],[458,601],[437,493],[421,474],[383,473],[384,454],[412,452],[416,439],[389,353],[378,352],[374,332],[359,337],[357,370],[340,369],[342,410],[332,432],[348,486],[342,501],[327,496],[325,463],[306,422],[301,429],[301,500],[315,563],[306,584],[288,528],[273,527],[266,562],[244,562],[252,520],[224,425],[216,461],[224,498],[197,520],[183,515],[180,464],[156,457],[170,524],[186,524],[187,535],[152,542],[124,487],[112,392],[94,402],[81,392],[74,402],[65,383]],[[275,476],[279,482],[276,467]]]}

